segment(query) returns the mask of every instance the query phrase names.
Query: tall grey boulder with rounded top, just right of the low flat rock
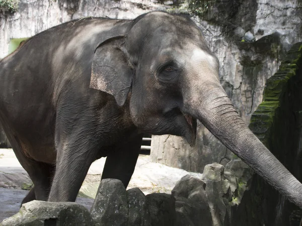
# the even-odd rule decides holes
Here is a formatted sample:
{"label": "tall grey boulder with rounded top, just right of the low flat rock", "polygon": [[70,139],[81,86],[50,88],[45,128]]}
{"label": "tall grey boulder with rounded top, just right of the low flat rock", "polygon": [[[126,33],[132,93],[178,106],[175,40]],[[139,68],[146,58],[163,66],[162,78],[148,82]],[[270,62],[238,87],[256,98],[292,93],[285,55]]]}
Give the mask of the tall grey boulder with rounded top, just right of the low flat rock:
{"label": "tall grey boulder with rounded top, just right of the low flat rock", "polygon": [[120,180],[104,179],[101,181],[91,207],[91,216],[98,223],[97,225],[127,225],[127,193]]}

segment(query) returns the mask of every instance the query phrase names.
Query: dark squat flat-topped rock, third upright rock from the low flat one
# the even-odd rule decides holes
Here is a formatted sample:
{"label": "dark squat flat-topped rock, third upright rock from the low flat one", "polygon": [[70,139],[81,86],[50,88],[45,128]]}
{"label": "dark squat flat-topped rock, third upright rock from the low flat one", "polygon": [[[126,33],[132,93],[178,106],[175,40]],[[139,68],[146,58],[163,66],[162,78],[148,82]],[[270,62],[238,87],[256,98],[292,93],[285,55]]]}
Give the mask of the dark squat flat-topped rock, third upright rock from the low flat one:
{"label": "dark squat flat-topped rock, third upright rock from the low flat one", "polygon": [[176,219],[175,197],[165,193],[146,195],[153,226],[174,226]]}

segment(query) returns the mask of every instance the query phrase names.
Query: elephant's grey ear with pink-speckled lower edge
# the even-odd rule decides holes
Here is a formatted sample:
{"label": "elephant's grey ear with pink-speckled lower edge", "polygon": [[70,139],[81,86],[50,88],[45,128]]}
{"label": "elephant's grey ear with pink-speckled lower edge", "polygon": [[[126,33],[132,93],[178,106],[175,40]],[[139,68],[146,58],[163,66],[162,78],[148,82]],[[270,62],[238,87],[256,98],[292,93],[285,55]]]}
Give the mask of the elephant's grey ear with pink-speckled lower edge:
{"label": "elephant's grey ear with pink-speckled lower edge", "polygon": [[125,51],[122,38],[115,37],[101,43],[95,51],[92,62],[90,87],[114,96],[117,104],[123,106],[132,86],[133,70]]}

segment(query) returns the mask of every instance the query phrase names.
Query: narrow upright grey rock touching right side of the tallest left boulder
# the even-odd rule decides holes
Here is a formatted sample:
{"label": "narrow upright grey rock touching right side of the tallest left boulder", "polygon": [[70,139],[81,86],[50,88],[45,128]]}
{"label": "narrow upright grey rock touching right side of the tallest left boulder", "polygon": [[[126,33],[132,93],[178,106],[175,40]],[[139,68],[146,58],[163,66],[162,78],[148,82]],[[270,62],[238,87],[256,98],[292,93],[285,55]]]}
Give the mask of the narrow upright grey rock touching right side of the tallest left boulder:
{"label": "narrow upright grey rock touching right side of the tallest left boulder", "polygon": [[149,226],[151,218],[146,197],[139,188],[127,190],[129,217],[128,226]]}

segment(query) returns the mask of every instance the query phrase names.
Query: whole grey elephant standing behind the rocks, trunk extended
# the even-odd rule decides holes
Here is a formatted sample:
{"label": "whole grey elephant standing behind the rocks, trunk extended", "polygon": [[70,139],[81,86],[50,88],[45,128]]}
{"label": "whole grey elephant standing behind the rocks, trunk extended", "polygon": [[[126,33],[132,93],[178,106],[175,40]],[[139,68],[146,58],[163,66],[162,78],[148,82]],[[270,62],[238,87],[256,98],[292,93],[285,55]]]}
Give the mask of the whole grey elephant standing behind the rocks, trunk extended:
{"label": "whole grey elephant standing behind the rocks, trunk extended", "polygon": [[44,31],[0,62],[0,121],[34,182],[32,199],[74,201],[91,163],[125,187],[142,133],[183,136],[196,119],[292,202],[302,185],[246,127],[198,27],[153,12]]}

